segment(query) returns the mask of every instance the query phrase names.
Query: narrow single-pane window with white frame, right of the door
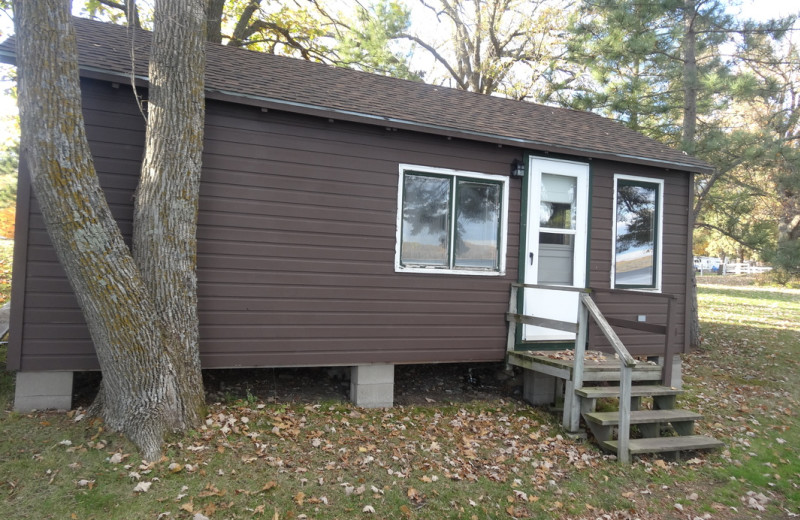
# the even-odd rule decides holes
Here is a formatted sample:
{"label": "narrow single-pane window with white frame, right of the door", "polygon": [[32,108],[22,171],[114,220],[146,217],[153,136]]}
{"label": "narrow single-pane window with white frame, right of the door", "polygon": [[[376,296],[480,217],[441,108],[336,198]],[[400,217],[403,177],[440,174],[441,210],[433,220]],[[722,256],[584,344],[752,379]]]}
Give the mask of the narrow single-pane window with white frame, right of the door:
{"label": "narrow single-pane window with white frame, right of the door", "polygon": [[661,290],[664,180],[614,175],[611,287]]}

